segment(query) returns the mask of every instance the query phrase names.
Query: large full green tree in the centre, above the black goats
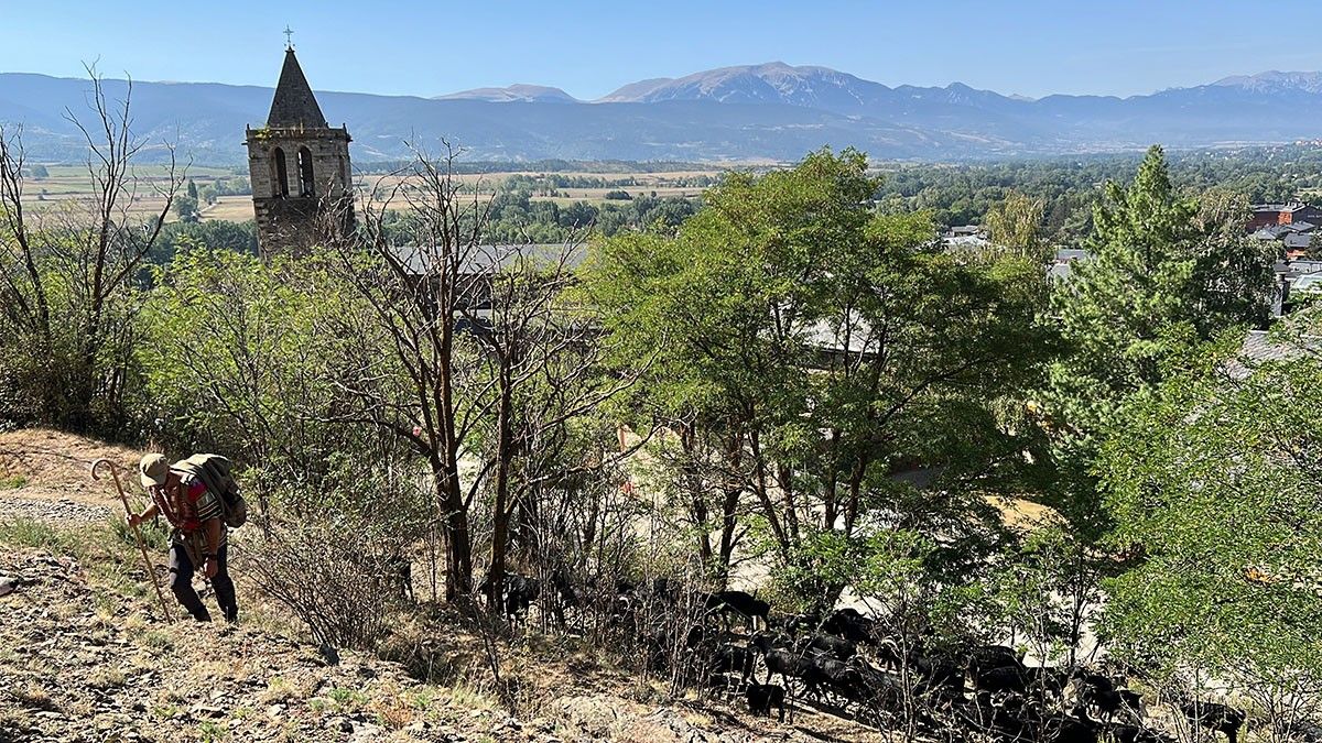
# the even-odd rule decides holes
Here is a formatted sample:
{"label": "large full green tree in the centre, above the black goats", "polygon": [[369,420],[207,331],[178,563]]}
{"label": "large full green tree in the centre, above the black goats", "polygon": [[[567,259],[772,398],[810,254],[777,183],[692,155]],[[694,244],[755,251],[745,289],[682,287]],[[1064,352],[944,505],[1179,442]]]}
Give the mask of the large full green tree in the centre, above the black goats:
{"label": "large full green tree in the centre, above the black goats", "polygon": [[[878,185],[861,153],[822,151],[728,176],[674,237],[596,251],[620,360],[660,354],[636,410],[686,460],[673,484],[718,579],[743,509],[779,561],[812,562],[813,534],[849,538],[894,509],[943,518],[903,473],[968,497],[1014,469],[997,467],[1018,447],[992,401],[1034,379],[1046,348],[1026,288],[1040,267],[941,251],[924,215],[876,214]],[[824,578],[798,588],[832,600],[841,584]]]}

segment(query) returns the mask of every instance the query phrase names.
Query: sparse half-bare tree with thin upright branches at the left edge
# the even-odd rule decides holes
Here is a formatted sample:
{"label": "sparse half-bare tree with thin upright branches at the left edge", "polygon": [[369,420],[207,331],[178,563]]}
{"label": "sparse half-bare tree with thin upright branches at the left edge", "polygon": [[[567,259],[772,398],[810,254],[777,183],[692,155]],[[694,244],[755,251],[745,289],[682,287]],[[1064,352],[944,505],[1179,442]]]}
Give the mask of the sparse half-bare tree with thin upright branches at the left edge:
{"label": "sparse half-bare tree with thin upright branches at the left edge", "polygon": [[91,73],[83,126],[93,193],[30,210],[19,132],[0,131],[0,416],[74,430],[116,431],[136,369],[140,267],[161,233],[182,175],[169,153],[160,212],[132,210],[132,164],[145,143],[130,131],[130,97],[107,98]]}

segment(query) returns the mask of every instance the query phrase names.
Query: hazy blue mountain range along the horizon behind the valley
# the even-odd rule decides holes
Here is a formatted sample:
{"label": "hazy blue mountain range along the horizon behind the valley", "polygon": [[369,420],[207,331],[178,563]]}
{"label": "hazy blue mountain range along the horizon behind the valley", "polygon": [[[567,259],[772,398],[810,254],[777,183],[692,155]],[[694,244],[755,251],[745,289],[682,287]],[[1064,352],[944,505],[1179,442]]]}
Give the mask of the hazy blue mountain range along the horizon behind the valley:
{"label": "hazy blue mountain range along the horizon behind the valley", "polygon": [[[316,70],[309,71],[313,79]],[[104,81],[123,97],[123,81]],[[33,160],[82,157],[65,111],[87,112],[85,79],[0,73],[0,122],[24,126]],[[135,132],[176,141],[197,163],[243,161],[243,128],[263,124],[272,90],[135,82]],[[816,66],[723,67],[625,85],[598,100],[514,85],[435,98],[317,93],[356,161],[431,149],[444,137],[468,160],[796,160],[822,145],[876,159],[970,160],[1322,139],[1322,73],[1261,73],[1128,98],[1023,98],[945,87],[890,87]]]}

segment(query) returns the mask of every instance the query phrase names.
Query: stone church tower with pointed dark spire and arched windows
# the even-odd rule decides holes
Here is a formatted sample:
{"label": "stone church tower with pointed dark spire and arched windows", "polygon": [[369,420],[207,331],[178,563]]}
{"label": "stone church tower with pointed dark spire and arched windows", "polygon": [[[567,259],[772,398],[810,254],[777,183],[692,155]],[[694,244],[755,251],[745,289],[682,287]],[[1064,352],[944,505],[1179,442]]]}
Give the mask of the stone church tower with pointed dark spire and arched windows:
{"label": "stone church tower with pointed dark spire and arched windows", "polygon": [[327,124],[293,45],[284,49],[266,127],[247,130],[247,149],[263,259],[353,230],[349,131]]}

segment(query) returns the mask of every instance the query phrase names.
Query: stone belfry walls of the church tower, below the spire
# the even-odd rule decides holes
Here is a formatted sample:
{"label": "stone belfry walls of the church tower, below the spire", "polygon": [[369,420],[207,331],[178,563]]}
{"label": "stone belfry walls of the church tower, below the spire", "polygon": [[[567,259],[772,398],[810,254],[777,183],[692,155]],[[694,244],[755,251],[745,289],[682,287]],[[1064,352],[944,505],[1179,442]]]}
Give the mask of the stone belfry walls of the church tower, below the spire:
{"label": "stone belfry walls of the church tower, below the spire", "polygon": [[[258,247],[263,258],[297,253],[323,239],[325,230],[353,229],[353,171],[349,132],[344,128],[267,127],[247,131],[249,176]],[[299,152],[312,164],[312,196],[300,188]],[[276,152],[284,153],[284,189],[278,180]],[[337,212],[334,221],[323,219]]]}

